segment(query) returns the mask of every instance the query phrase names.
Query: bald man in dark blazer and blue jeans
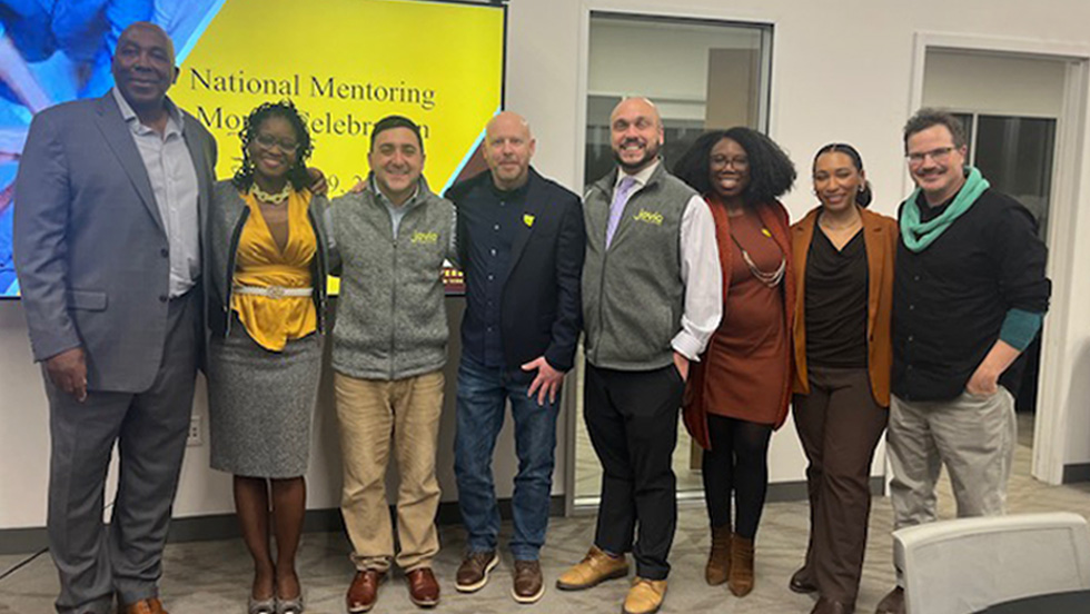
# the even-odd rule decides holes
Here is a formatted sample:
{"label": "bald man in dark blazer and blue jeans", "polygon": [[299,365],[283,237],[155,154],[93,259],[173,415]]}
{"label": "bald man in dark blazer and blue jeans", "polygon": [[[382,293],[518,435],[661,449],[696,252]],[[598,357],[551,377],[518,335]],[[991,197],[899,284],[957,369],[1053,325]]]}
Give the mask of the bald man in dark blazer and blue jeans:
{"label": "bald man in dark blazer and blue jeans", "polygon": [[492,455],[511,402],[518,474],[512,496],[512,596],[533,603],[545,591],[545,543],[556,415],[564,374],[582,326],[579,277],[585,236],[579,197],[531,166],[526,120],[504,111],[488,122],[488,171],[447,191],[458,208],[458,251],[466,278],[458,367],[455,475],[468,533],[458,591],[478,591],[496,566],[499,509]]}

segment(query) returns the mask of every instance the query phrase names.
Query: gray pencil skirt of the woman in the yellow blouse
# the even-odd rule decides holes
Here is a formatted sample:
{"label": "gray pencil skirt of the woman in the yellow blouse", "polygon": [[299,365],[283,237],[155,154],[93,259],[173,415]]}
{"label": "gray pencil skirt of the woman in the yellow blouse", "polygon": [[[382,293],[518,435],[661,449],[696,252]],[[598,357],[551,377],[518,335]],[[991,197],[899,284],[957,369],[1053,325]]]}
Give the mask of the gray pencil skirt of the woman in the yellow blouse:
{"label": "gray pencil skirt of the woman in the yellow blouse", "polygon": [[249,477],[307,473],[310,423],[321,375],[321,336],[283,351],[257,345],[236,319],[208,351],[208,414],[214,469]]}

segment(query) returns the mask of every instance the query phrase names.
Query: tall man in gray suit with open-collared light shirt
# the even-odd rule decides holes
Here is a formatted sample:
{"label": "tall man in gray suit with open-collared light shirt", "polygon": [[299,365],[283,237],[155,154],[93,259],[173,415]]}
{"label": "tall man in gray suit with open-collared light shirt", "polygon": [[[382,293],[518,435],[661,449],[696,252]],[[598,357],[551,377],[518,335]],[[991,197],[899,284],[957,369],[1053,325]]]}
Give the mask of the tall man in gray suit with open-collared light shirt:
{"label": "tall man in gray suit with open-collared light shirt", "polygon": [[[199,229],[216,146],[166,92],[174,46],[129,26],[106,96],[40,112],[16,182],[14,256],[49,397],[60,613],[165,612],[160,559],[201,338]],[[120,481],[102,525],[110,452]]]}

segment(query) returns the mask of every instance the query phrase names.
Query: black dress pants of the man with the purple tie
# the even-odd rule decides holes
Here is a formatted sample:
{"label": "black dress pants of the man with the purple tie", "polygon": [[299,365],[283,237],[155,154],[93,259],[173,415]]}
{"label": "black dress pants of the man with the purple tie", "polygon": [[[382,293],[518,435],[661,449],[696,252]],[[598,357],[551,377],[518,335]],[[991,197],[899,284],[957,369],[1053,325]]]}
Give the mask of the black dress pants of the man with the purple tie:
{"label": "black dress pants of the man with the purple tie", "polygon": [[647,580],[670,574],[677,524],[671,462],[684,389],[673,364],[650,372],[586,368],[583,416],[603,472],[594,543],[610,554],[632,551],[636,574]]}

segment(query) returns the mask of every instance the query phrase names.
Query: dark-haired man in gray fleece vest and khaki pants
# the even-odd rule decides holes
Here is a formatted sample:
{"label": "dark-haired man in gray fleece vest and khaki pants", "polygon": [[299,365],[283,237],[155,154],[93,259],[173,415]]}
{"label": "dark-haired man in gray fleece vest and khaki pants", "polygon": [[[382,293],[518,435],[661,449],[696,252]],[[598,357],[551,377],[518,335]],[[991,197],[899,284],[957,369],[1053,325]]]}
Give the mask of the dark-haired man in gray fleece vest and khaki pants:
{"label": "dark-haired man in gray fleece vest and khaki pants", "polygon": [[455,256],[454,206],[422,177],[424,142],[412,120],[389,116],[371,133],[368,187],[334,199],[330,226],[341,259],[333,329],[334,389],[344,454],[341,513],[356,576],[348,612],[375,605],[395,558],[386,503],[390,444],[400,487],[395,562],[422,607],[439,601],[435,452],[443,408],[447,316],[443,261]]}

